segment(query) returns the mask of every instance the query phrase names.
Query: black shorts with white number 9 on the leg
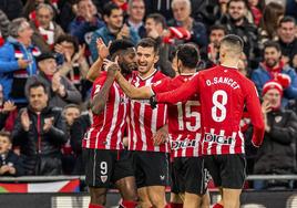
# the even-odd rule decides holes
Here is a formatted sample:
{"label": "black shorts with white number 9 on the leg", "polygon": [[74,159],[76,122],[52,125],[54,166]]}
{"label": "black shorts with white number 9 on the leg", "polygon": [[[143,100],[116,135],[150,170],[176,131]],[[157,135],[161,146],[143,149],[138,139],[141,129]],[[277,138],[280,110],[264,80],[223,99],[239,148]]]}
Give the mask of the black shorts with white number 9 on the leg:
{"label": "black shorts with white number 9 on the leg", "polygon": [[85,183],[89,187],[109,188],[117,180],[134,176],[127,150],[83,149]]}

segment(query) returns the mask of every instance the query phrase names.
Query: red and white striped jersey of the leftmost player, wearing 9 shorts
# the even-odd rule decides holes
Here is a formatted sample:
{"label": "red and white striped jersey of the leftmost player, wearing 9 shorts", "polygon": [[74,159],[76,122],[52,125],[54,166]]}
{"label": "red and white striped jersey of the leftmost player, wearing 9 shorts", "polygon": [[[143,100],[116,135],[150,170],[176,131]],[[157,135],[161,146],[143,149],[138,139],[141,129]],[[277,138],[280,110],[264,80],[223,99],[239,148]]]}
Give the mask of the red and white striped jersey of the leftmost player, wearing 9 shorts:
{"label": "red and white striped jersey of the leftmost player, wearing 9 shorts", "polygon": [[[106,72],[93,83],[92,100],[100,92],[106,80]],[[127,98],[119,84],[110,89],[104,111],[93,115],[93,124],[83,138],[82,146],[98,149],[123,149],[123,136],[126,127]]]}

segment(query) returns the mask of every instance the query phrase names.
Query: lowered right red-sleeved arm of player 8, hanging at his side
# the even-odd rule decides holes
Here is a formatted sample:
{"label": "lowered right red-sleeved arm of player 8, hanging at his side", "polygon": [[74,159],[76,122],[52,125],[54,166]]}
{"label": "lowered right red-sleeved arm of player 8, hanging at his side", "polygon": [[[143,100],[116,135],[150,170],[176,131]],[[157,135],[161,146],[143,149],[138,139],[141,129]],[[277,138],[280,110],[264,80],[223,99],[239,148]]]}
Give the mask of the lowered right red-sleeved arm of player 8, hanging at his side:
{"label": "lowered right red-sleeved arm of player 8, hanging at his side", "polygon": [[260,110],[260,102],[257,95],[256,86],[250,83],[247,92],[246,107],[250,115],[250,122],[253,124],[253,137],[252,143],[254,146],[259,147],[263,142],[265,125]]}

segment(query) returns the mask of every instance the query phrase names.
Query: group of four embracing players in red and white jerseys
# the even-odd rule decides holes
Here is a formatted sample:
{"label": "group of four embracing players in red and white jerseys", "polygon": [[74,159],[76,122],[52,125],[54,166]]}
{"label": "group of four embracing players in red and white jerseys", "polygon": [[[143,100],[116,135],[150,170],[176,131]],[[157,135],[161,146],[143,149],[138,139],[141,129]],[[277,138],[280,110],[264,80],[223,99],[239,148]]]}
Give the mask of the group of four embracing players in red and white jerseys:
{"label": "group of four embracing players in red and white jerseys", "polygon": [[88,74],[93,124],[83,138],[89,208],[104,207],[111,186],[119,189],[122,208],[209,208],[208,173],[222,194],[214,207],[239,207],[246,177],[244,110],[253,145],[264,136],[256,89],[237,71],[243,46],[239,37],[226,35],[219,65],[196,72],[198,50],[181,44],[171,79],[155,69],[153,39],[137,45],[115,40],[109,46],[98,40],[99,59]]}

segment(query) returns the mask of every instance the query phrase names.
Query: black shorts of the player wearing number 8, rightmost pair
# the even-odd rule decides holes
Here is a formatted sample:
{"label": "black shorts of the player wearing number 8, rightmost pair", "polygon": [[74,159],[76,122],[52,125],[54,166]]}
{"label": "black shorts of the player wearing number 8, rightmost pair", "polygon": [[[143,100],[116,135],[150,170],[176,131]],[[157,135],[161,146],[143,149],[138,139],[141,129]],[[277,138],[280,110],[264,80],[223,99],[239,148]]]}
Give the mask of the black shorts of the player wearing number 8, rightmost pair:
{"label": "black shorts of the player wearing number 8, rightmost pair", "polygon": [[204,160],[215,186],[233,189],[243,188],[246,178],[245,155],[205,155]]}

